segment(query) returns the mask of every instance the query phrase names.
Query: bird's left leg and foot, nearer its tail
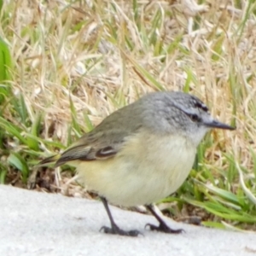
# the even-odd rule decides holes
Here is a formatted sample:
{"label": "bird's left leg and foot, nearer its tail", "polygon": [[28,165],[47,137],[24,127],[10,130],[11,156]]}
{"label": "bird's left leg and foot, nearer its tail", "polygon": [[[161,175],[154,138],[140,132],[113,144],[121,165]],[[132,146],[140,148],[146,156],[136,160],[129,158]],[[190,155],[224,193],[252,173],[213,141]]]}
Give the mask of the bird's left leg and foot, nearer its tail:
{"label": "bird's left leg and foot, nearer its tail", "polygon": [[138,236],[141,234],[141,232],[139,232],[138,230],[130,230],[130,231],[125,231],[125,230],[121,230],[119,228],[119,226],[117,224],[115,224],[115,222],[113,221],[113,217],[112,217],[112,214],[109,210],[109,207],[108,207],[108,201],[106,200],[106,198],[104,197],[100,197],[101,200],[102,200],[102,203],[108,213],[108,218],[110,220],[110,224],[111,224],[111,228],[109,227],[106,227],[106,226],[103,226],[101,228],[101,230],[104,231],[104,233],[107,233],[107,234],[114,234],[114,235],[120,235],[120,236]]}

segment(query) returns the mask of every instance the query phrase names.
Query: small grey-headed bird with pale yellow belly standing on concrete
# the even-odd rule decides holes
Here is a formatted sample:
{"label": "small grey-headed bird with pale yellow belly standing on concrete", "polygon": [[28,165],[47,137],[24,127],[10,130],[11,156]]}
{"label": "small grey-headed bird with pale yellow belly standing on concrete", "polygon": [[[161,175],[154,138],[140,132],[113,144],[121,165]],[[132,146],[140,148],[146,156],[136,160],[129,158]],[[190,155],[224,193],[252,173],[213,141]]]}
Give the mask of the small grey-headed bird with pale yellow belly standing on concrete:
{"label": "small grey-headed bird with pale yellow belly standing on concrete", "polygon": [[76,166],[79,181],[101,198],[108,213],[108,234],[138,236],[138,230],[122,230],[114,222],[108,201],[123,207],[145,205],[159,225],[150,230],[173,230],[155,212],[152,203],[175,192],[188,177],[196,148],[211,128],[235,130],[213,119],[197,97],[180,91],[154,92],[120,108],[100,125],[80,137],[55,161]]}

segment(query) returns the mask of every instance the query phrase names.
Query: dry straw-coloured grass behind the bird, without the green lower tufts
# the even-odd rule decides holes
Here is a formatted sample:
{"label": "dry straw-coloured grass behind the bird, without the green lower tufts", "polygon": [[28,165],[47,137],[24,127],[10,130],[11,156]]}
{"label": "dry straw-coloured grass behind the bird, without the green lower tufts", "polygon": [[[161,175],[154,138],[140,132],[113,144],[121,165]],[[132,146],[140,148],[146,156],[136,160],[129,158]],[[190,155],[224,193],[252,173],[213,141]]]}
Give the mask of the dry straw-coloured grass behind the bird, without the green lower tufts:
{"label": "dry straw-coloured grass behind the bird, without the green lower tufts", "polygon": [[[255,5],[246,0],[201,5],[192,0],[5,1],[0,36],[15,62],[12,89],[24,97],[30,124],[39,113],[44,117],[38,154],[60,148],[44,139],[67,145],[89,131],[90,122],[98,124],[148,91],[184,90],[237,127],[207,136],[199,148],[201,172],[192,172],[191,180],[207,181],[211,171],[219,178],[214,184],[243,197],[237,162],[254,193]],[[3,116],[26,134],[31,131],[11,104]],[[8,141],[9,150],[26,148]]]}

